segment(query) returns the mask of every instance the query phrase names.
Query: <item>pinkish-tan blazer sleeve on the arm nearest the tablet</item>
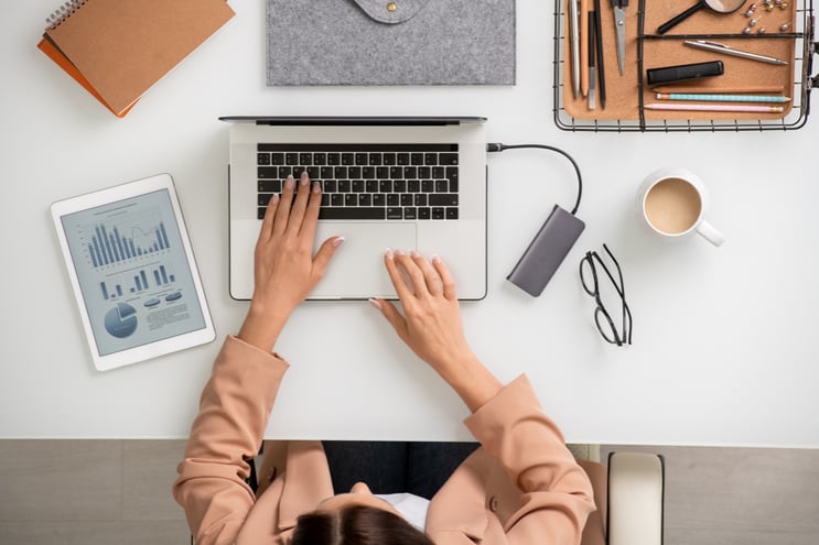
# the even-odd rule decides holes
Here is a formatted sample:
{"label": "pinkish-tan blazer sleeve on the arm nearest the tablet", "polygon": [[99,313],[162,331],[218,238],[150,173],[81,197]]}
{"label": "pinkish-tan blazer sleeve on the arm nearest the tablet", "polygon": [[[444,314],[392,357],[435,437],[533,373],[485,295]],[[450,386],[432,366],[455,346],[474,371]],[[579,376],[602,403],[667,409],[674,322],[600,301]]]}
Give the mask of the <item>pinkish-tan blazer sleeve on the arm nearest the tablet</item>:
{"label": "pinkish-tan blazer sleeve on the arm nearest the tablet", "polygon": [[288,363],[228,337],[200,400],[173,497],[197,545],[234,543],[256,498],[245,483]]}

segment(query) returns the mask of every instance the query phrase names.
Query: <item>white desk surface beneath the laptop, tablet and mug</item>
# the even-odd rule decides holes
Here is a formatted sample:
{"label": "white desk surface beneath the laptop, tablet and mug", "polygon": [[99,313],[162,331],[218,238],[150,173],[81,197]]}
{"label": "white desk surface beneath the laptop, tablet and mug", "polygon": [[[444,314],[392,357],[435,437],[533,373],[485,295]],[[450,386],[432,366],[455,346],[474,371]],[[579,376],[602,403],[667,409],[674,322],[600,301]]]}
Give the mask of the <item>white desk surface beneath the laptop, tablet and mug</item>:
{"label": "white desk surface beneath the laptop, tablet and mug", "polygon": [[[489,293],[463,305],[475,351],[504,381],[526,372],[570,442],[819,447],[819,120],[793,132],[573,134],[552,121],[552,2],[518,2],[513,87],[267,88],[263,2],[162,79],[122,120],[35,48],[53,0],[0,20],[3,186],[0,437],[184,437],[220,340],[98,373],[86,353],[49,205],[171,173],[219,337],[247,309],[227,291],[225,115],[473,115],[492,141],[572,153],[586,230],[538,298],[506,280],[573,171],[557,155],[488,159]],[[309,37],[308,37],[309,39]],[[697,172],[716,249],[644,231],[650,171]],[[578,277],[583,252],[618,257],[634,345],[604,344]],[[321,342],[316,342],[316,338]],[[367,303],[311,303],[278,350],[292,363],[270,423],[290,438],[461,439],[456,396]]]}

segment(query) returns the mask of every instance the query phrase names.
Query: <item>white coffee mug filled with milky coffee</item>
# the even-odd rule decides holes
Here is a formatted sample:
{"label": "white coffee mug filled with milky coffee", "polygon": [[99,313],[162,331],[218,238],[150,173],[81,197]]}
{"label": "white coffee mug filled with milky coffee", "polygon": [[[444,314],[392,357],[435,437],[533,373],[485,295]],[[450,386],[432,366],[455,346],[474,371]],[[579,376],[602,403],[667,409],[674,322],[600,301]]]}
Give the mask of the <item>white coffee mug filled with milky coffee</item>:
{"label": "white coffee mug filled with milky coffee", "polygon": [[713,246],[725,237],[705,221],[709,206],[705,184],[686,168],[659,168],[643,181],[638,192],[643,220],[666,240],[680,240],[700,233]]}

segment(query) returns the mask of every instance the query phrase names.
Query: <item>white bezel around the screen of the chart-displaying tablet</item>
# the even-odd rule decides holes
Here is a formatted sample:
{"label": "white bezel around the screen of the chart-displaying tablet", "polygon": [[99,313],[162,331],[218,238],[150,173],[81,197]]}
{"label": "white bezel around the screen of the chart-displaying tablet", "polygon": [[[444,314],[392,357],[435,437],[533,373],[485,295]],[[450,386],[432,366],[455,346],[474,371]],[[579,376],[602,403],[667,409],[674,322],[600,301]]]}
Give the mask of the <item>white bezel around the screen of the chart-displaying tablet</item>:
{"label": "white bezel around the screen of the chart-displaying tablet", "polygon": [[[88,306],[86,299],[83,297],[83,291],[80,288],[79,279],[77,275],[77,268],[71,253],[68,238],[65,232],[62,219],[64,216],[69,214],[88,210],[90,208],[114,204],[129,198],[140,197],[162,189],[168,190],[168,196],[173,209],[173,220],[175,221],[176,229],[179,229],[180,238],[182,239],[185,261],[187,262],[187,268],[193,280],[196,293],[196,301],[198,302],[200,308],[202,309],[202,316],[205,321],[205,327],[185,334],[176,335],[166,339],[154,340],[142,346],[127,348],[108,355],[101,355],[96,342],[94,329],[91,328]],[[207,306],[207,301],[205,299],[205,292],[202,286],[202,279],[200,277],[198,268],[196,266],[196,260],[194,259],[191,240],[185,227],[179,197],[176,195],[176,188],[170,174],[157,174],[133,182],[127,182],[125,184],[116,185],[114,187],[108,187],[106,189],[100,189],[85,195],[78,195],[67,199],[58,200],[51,205],[51,214],[54,221],[54,227],[56,229],[57,239],[60,241],[60,247],[62,249],[63,262],[65,263],[65,268],[71,280],[72,292],[74,293],[74,298],[77,303],[77,308],[79,309],[79,316],[83,323],[83,329],[85,330],[86,341],[91,355],[91,360],[94,361],[94,367],[98,371],[108,371],[122,366],[158,358],[160,356],[183,350],[185,348],[211,342],[216,338],[213,318],[211,317],[211,310]]]}

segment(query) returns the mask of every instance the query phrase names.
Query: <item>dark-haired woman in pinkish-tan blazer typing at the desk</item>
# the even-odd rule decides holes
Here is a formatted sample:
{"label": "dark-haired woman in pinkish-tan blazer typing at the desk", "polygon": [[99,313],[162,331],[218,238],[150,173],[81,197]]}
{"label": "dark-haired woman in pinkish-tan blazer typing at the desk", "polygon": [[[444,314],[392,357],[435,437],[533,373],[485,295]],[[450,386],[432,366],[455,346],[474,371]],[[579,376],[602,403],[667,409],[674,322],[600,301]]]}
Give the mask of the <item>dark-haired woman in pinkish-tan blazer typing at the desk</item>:
{"label": "dark-haired woman in pinkish-tan blazer typing at the desk", "polygon": [[446,265],[417,252],[385,255],[403,314],[388,301],[370,303],[464,401],[465,425],[482,445],[424,505],[423,532],[364,483],[334,494],[320,442],[266,450],[270,478],[257,494],[245,483],[289,367],[272,351],[279,334],[344,242],[330,238],[313,255],[320,204],[319,184],[302,174],[298,187],[287,179],[265,215],[250,308],[216,358],[173,488],[196,543],[580,543],[594,511],[586,475],[526,377],[503,385],[478,361]]}

